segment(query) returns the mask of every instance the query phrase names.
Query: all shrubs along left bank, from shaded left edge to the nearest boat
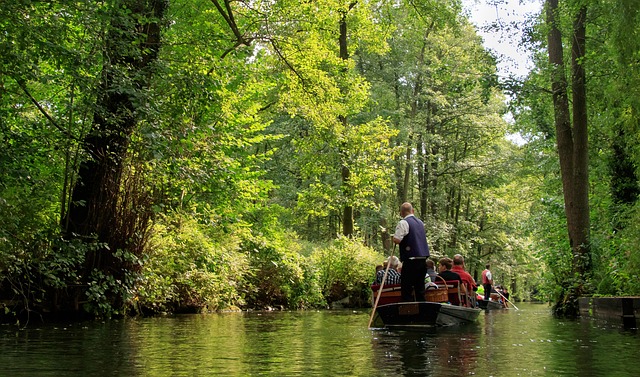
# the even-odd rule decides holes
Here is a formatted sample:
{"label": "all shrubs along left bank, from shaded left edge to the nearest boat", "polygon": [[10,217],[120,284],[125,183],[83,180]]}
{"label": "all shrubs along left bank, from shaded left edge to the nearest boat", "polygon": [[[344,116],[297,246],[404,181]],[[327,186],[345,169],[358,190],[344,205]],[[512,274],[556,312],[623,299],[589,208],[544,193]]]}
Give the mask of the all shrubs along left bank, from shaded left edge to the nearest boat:
{"label": "all shrubs along left bank, from shaded left edge to the nearest boat", "polygon": [[77,271],[84,255],[100,245],[52,236],[31,246],[38,250],[2,261],[3,320],[309,309],[337,300],[368,305],[379,252],[357,239],[309,244],[274,225],[214,226],[185,214],[159,217],[144,256],[131,261],[126,278],[96,275],[71,310],[57,307],[56,297],[83,288]]}

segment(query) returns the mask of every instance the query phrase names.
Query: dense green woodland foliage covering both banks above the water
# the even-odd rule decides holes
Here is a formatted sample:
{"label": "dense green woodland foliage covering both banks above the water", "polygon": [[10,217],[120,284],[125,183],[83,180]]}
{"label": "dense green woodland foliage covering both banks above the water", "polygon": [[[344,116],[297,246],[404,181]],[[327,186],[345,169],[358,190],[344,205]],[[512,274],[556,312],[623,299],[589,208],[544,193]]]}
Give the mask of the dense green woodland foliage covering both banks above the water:
{"label": "dense green woodland foliage covering both banks above the water", "polygon": [[491,262],[514,297],[638,294],[640,7],[562,1],[564,38],[583,6],[576,271],[543,15],[508,108],[458,0],[4,2],[4,313],[368,305],[404,201],[434,258]]}

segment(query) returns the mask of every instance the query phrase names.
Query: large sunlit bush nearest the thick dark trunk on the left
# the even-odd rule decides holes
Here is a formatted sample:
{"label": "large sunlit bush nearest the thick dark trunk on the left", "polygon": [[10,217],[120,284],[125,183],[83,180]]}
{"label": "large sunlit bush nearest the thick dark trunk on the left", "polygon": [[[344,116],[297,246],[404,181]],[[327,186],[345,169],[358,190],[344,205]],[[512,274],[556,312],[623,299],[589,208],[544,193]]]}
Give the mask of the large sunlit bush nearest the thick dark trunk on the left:
{"label": "large sunlit bush nearest the thick dark trunk on the left", "polygon": [[248,270],[240,239],[174,214],[154,224],[134,297],[141,311],[197,312],[242,305]]}

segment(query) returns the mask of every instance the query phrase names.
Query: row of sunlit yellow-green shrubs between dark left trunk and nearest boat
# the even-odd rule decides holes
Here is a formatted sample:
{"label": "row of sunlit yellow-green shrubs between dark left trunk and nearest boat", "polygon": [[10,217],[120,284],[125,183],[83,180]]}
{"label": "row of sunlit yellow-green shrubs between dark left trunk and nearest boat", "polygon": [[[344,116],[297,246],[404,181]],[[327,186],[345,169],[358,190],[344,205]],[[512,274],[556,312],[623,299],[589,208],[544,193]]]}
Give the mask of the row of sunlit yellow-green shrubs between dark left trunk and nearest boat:
{"label": "row of sunlit yellow-green shrubs between dark left trunk and nearest boat", "polygon": [[[222,233],[192,219],[156,224],[132,298],[142,313],[326,307],[369,301],[381,255],[340,238],[306,245],[294,233],[236,224]],[[305,255],[306,254],[306,255]]]}

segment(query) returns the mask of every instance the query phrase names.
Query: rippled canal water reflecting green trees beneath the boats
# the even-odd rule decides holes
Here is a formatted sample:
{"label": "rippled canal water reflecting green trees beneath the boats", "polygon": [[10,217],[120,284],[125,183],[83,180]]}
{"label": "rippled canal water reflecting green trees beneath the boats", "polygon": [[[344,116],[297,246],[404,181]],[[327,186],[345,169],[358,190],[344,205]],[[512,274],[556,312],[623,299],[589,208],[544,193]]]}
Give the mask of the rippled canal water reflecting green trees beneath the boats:
{"label": "rippled canal water reflecting green trees beneath the boats", "polygon": [[638,376],[640,335],[547,305],[371,330],[368,310],[0,326],[0,376]]}

